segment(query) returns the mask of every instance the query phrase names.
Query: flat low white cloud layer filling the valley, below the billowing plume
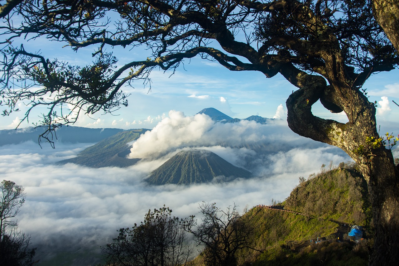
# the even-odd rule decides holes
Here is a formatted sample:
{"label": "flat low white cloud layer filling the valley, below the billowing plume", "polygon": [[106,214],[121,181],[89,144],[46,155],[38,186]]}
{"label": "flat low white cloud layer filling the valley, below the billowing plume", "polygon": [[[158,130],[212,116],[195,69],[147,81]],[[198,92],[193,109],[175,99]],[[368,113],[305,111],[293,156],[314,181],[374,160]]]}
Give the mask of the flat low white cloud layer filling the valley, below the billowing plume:
{"label": "flat low white cloud layer filling the valley, below the billowing plume", "polygon": [[[182,115],[179,119],[191,120]],[[198,115],[195,120],[203,121],[206,117]],[[195,128],[191,123],[188,127]],[[162,164],[162,160],[143,161],[124,169],[52,164],[85,148],[76,149],[77,146],[59,144],[54,151],[29,142],[0,149],[0,175],[25,187],[26,203],[18,220],[20,229],[32,236],[34,246],[41,247],[38,254],[43,254],[43,248],[46,253],[57,248],[78,250],[82,246],[99,250],[99,246],[116,236],[117,229],[140,222],[148,209],[163,204],[172,208],[176,216],[184,217],[197,214],[202,200],[217,202],[220,207],[236,202],[241,209],[246,204],[268,204],[272,198],[283,200],[298,183],[299,176],[316,172],[322,163],[330,160],[336,164],[347,160],[337,155],[338,149],[326,145],[314,149],[289,148],[274,156],[260,156],[247,148],[213,146],[207,149],[235,163],[246,157],[257,158],[253,163],[258,165],[259,175],[231,183],[151,187],[142,183],[142,178]],[[284,139],[279,146],[286,147]]]}

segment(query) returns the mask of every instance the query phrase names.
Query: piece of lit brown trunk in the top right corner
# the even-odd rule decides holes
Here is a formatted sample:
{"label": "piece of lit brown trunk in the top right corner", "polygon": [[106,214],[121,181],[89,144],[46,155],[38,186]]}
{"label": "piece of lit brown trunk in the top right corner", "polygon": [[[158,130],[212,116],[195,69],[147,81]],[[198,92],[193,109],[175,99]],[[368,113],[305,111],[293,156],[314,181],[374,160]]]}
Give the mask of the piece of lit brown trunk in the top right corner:
{"label": "piece of lit brown trunk in the top right corner", "polygon": [[373,0],[373,12],[378,24],[399,51],[399,1]]}

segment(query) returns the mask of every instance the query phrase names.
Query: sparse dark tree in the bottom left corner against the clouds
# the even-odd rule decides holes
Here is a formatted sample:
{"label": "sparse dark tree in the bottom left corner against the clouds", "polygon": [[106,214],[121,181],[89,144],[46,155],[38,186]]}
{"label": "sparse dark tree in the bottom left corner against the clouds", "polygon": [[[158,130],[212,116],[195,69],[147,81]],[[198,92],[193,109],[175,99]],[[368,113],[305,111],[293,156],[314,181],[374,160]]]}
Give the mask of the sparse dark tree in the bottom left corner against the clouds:
{"label": "sparse dark tree in the bottom left corner against the clouds", "polygon": [[20,232],[14,220],[25,202],[24,188],[3,180],[0,189],[0,261],[9,266],[34,265],[36,248],[29,248],[30,236]]}

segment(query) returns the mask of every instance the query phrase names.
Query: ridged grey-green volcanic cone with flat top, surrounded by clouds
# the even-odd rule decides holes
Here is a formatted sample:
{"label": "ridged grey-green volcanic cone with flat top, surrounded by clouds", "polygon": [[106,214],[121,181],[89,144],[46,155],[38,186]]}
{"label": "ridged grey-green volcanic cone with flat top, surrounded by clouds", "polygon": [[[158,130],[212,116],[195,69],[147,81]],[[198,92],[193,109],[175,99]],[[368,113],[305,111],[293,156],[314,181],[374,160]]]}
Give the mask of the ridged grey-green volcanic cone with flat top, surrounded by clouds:
{"label": "ridged grey-green volcanic cone with flat top, surrounded by clouds", "polygon": [[154,185],[208,183],[214,180],[251,177],[251,172],[236,167],[215,153],[191,149],[180,151],[150,173],[146,181]]}

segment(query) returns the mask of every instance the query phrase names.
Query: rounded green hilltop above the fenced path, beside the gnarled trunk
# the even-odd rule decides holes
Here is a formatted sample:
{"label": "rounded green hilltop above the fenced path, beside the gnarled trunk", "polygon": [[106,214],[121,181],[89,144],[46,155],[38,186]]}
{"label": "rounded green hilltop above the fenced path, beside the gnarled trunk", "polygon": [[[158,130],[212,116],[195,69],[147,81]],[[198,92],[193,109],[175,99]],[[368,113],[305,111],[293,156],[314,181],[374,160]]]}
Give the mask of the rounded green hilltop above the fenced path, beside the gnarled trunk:
{"label": "rounded green hilltop above the fenced path, beside the gnarled trunk", "polygon": [[286,199],[287,209],[351,224],[371,218],[367,183],[353,169],[334,169],[300,183]]}

